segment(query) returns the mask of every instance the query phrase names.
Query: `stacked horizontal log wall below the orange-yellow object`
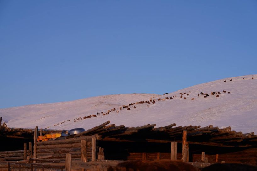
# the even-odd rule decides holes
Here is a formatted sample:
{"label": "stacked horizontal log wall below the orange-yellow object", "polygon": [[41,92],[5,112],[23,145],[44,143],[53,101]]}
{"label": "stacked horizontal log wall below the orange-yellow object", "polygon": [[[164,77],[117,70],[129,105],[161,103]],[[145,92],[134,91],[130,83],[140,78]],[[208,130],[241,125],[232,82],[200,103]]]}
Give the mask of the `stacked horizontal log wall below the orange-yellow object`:
{"label": "stacked horizontal log wall below the orange-yellow object", "polygon": [[92,161],[93,137],[95,136],[37,142],[36,157],[53,155],[47,159],[65,161],[66,154],[70,153],[73,160],[81,160],[81,140],[86,140],[86,160]]}

